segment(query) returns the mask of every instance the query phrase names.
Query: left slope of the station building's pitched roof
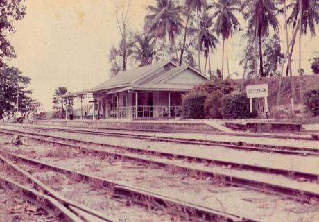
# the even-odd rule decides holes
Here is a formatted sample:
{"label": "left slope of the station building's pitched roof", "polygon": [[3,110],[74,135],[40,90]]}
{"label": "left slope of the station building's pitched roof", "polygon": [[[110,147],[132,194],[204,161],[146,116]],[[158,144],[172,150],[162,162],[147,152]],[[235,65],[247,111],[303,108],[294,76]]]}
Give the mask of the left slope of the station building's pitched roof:
{"label": "left slope of the station building's pitched roof", "polygon": [[151,72],[156,71],[160,67],[163,67],[164,65],[168,65],[169,63],[176,66],[171,61],[164,61],[164,62],[158,62],[158,63],[152,64],[152,65],[146,65],[144,67],[137,67],[135,69],[122,71],[116,76],[113,76],[112,78],[92,88],[92,91],[131,85],[132,83],[135,83],[135,81],[138,80],[139,78],[146,76],[147,74],[150,74]]}

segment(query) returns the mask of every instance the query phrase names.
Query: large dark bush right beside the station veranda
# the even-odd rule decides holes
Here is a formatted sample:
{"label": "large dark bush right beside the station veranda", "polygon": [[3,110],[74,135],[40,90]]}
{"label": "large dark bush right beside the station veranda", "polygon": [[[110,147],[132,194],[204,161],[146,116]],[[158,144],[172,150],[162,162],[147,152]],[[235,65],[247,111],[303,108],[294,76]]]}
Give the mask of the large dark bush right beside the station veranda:
{"label": "large dark bush right beside the station veranda", "polygon": [[204,103],[207,98],[205,92],[189,92],[182,96],[182,117],[202,119],[205,118]]}

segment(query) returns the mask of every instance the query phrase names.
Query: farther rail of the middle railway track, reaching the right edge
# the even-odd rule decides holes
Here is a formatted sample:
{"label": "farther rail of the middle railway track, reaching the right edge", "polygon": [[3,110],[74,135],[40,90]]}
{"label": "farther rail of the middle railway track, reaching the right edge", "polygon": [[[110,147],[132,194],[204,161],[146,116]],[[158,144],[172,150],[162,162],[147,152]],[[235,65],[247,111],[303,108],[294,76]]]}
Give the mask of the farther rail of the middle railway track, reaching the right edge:
{"label": "farther rail of the middle railway track, reaching the right edge", "polygon": [[[99,143],[99,142],[87,142],[87,141],[83,141],[80,139],[69,139],[69,138],[64,138],[64,137],[58,137],[58,136],[52,136],[52,135],[44,135],[42,133],[26,133],[23,131],[19,131],[19,130],[0,130],[0,133],[6,133],[9,135],[21,135],[21,136],[26,136],[26,137],[30,137],[32,139],[36,139],[38,141],[42,141],[42,142],[49,142],[49,143],[53,143],[53,144],[59,144],[61,146],[72,146],[75,148],[83,148],[86,149],[87,151],[97,151],[99,153],[103,153],[103,151],[101,150],[96,150],[93,148],[87,148],[87,147],[83,147],[80,146],[79,144],[73,144],[73,143],[66,143],[65,141],[69,141],[69,142],[77,142],[77,143],[84,143],[84,144],[92,144],[92,145],[98,145],[98,146],[105,146],[110,147],[110,148],[120,148],[120,149],[125,149],[127,151],[133,151],[136,153],[145,153],[145,154],[155,154],[155,155],[160,155],[162,157],[173,157],[173,158],[180,158],[180,159],[184,159],[184,160],[191,160],[191,161],[197,161],[197,162],[208,162],[208,163],[212,163],[212,164],[216,164],[216,165],[221,165],[221,166],[232,166],[233,169],[248,169],[248,170],[252,170],[252,171],[259,171],[259,172],[264,172],[264,173],[274,173],[274,174],[279,174],[279,175],[283,175],[283,176],[291,176],[291,177],[304,177],[310,180],[318,180],[318,174],[316,173],[307,173],[307,172],[302,172],[302,171],[293,171],[293,170],[287,170],[287,169],[278,169],[278,168],[274,168],[274,167],[263,167],[263,166],[257,166],[254,164],[243,164],[241,162],[231,162],[228,160],[218,160],[218,159],[209,159],[209,158],[204,158],[204,157],[194,157],[191,155],[186,155],[186,154],[175,154],[175,153],[169,153],[166,151],[153,151],[153,150],[148,150],[146,148],[136,148],[136,147],[130,147],[130,146],[116,146],[116,145],[112,145],[112,144],[105,144],[105,143]],[[52,139],[60,139],[64,142],[57,142],[54,140],[50,140],[50,139],[43,139],[43,138],[39,138],[40,137],[51,137]],[[105,154],[107,153],[112,153],[110,151],[104,151]],[[115,153],[113,153],[115,154]]]}

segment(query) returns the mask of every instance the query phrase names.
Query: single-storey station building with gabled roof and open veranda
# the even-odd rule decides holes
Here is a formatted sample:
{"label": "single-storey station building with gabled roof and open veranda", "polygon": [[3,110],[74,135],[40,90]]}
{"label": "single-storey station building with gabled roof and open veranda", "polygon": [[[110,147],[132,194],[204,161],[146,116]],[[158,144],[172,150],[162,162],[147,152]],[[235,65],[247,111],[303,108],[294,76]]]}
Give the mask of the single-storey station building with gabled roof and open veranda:
{"label": "single-storey station building with gabled roof and open veranda", "polygon": [[[120,72],[92,89],[62,97],[92,94],[92,119],[172,118],[181,114],[182,94],[206,80],[192,67],[164,61]],[[87,112],[81,105],[80,114],[74,115],[83,119]]]}

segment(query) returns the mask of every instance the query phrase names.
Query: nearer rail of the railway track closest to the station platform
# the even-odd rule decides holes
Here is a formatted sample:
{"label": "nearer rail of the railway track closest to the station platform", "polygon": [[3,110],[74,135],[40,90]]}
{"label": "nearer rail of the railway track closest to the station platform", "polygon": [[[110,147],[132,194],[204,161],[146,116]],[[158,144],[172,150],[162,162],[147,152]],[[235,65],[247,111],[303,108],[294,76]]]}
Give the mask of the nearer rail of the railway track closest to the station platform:
{"label": "nearer rail of the railway track closest to the station platform", "polygon": [[[15,124],[17,125],[17,124]],[[10,125],[10,126],[15,126]],[[281,153],[287,155],[316,155],[319,156],[319,149],[314,148],[302,148],[295,146],[276,146],[276,145],[266,145],[266,144],[252,144],[247,142],[225,142],[218,141],[216,139],[185,139],[185,138],[175,138],[175,137],[159,137],[153,135],[139,135],[137,133],[119,133],[111,132],[104,130],[83,130],[76,128],[53,128],[53,127],[37,127],[37,126],[21,126],[23,128],[31,128],[35,130],[51,130],[51,131],[60,131],[65,133],[85,133],[89,135],[101,135],[101,136],[110,136],[110,137],[124,137],[131,139],[143,139],[153,142],[173,142],[179,144],[194,144],[194,145],[205,145],[205,146],[225,146],[227,148],[233,148],[236,150],[247,150],[247,151],[260,151],[260,152],[273,152]],[[234,134],[236,135],[236,134]],[[255,135],[256,136],[256,135]],[[282,138],[282,137],[280,137]],[[287,138],[287,137],[285,137]],[[298,137],[304,138],[304,137]]]}

